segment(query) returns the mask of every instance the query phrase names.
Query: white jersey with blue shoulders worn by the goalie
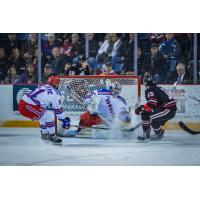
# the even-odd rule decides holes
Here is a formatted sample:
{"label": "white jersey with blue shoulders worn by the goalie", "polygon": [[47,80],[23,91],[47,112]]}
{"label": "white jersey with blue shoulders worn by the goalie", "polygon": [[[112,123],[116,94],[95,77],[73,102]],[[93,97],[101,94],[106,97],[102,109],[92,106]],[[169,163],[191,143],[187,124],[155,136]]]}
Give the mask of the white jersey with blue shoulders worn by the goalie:
{"label": "white jersey with blue shoulders worn by the goalie", "polygon": [[120,112],[126,110],[126,101],[120,95],[113,95],[110,90],[102,89],[96,90],[86,95],[85,103],[90,104],[91,101],[97,97],[99,99],[96,113],[103,119],[112,120],[119,115]]}

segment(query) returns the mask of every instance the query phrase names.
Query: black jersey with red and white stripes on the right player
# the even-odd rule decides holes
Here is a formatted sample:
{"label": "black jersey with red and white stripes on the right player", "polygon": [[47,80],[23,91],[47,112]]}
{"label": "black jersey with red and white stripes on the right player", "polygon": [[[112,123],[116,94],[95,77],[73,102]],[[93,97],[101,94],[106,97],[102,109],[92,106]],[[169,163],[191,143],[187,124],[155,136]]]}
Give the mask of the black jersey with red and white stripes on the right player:
{"label": "black jersey with red and white stripes on the right player", "polygon": [[169,96],[167,91],[156,85],[151,86],[145,90],[145,98],[147,103],[144,107],[164,108],[164,109],[176,109],[176,101]]}

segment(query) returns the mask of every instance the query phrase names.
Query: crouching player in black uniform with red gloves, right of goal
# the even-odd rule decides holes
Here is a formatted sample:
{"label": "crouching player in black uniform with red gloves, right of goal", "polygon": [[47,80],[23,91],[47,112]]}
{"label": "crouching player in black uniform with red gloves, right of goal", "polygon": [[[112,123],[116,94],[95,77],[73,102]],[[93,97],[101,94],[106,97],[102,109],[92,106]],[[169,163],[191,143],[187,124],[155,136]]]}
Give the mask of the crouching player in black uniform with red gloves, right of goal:
{"label": "crouching player in black uniform with red gloves, right of goal", "polygon": [[137,139],[140,141],[150,139],[151,127],[156,138],[162,138],[164,124],[176,114],[176,101],[162,87],[154,83],[151,74],[145,73],[143,82],[147,103],[135,110],[135,114],[141,115],[143,128],[143,135]]}

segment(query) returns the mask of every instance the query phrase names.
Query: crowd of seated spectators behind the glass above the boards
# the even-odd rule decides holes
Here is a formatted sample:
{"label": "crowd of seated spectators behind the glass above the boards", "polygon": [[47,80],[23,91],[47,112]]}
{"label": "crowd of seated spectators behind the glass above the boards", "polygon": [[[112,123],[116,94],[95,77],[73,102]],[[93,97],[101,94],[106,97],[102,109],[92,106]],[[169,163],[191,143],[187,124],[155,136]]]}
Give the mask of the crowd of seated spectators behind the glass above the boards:
{"label": "crowd of seated spectators behind the glass above the boards", "polygon": [[[41,36],[43,83],[51,74],[134,75],[133,33],[89,33],[88,56],[85,55],[85,34]],[[0,83],[38,82],[37,37],[36,33],[0,34]],[[148,71],[156,83],[192,83],[192,40],[192,34],[138,34],[138,75]]]}

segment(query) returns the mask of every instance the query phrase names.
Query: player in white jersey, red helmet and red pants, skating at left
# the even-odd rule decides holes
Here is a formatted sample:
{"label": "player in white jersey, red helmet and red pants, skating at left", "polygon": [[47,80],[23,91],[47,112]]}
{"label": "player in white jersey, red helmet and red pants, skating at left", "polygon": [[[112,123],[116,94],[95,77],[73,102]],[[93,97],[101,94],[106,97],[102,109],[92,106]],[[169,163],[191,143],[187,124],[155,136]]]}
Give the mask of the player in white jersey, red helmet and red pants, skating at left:
{"label": "player in white jersey, red helmet and red pants, skating at left", "polygon": [[19,102],[19,112],[25,117],[39,121],[41,138],[53,143],[62,142],[55,132],[55,114],[62,121],[64,129],[70,127],[70,118],[65,117],[63,113],[61,95],[57,90],[59,83],[59,77],[50,76],[48,84],[24,95]]}

